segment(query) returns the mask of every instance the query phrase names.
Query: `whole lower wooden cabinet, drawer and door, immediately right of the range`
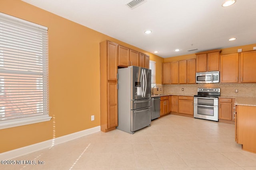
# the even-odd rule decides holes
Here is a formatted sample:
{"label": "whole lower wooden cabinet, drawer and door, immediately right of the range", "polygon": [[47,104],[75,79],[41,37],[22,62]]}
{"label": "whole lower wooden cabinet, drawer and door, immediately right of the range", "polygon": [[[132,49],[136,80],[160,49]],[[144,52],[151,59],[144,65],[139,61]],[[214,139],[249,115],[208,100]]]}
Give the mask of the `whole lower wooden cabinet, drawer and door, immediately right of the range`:
{"label": "whole lower wooden cabinet, drawer and door, immediately right of the range", "polygon": [[235,123],[233,114],[234,98],[219,98],[219,121]]}

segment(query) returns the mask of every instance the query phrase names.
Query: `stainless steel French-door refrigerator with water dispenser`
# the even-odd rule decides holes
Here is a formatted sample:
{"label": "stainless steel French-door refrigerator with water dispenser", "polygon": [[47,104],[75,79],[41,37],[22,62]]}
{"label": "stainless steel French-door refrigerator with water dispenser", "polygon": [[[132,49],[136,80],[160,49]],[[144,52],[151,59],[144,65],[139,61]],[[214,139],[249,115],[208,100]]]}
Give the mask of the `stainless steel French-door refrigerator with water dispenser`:
{"label": "stainless steel French-door refrigerator with water dispenser", "polygon": [[[110,94],[111,95],[111,94]],[[118,69],[118,127],[134,133],[151,123],[151,70],[138,66]]]}

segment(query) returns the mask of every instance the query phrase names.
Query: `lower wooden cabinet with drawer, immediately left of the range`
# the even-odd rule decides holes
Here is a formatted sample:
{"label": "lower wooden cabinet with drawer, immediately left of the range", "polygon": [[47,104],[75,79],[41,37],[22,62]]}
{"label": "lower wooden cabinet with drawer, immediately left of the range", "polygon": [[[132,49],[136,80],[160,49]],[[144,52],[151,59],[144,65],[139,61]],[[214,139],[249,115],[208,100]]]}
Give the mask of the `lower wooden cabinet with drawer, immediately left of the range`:
{"label": "lower wooden cabinet with drawer, immediately left of the range", "polygon": [[179,96],[179,113],[193,115],[194,113],[194,97]]}

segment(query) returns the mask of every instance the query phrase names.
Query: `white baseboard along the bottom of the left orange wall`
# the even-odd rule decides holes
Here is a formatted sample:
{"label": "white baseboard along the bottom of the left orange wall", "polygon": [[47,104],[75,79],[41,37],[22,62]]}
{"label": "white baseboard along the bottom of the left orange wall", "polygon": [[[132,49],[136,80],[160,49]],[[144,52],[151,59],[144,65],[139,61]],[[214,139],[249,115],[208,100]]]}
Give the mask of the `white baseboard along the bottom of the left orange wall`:
{"label": "white baseboard along the bottom of the left orange wall", "polygon": [[36,143],[36,144],[29,145],[26,147],[3,152],[0,154],[0,160],[10,160],[10,159],[16,158],[18,156],[29,154],[29,153],[32,153],[32,152],[35,152],[35,151],[38,151],[41,149],[50,148],[50,147],[52,147],[53,144],[58,145],[60,143],[71,141],[73,139],[77,139],[79,137],[83,137],[83,136],[86,136],[86,135],[89,135],[89,134],[92,134],[92,133],[95,133],[98,131],[100,131],[100,126],[86,129],[84,131],[79,131],[76,133],[71,133],[69,135],[57,137],[55,139],[50,139],[48,141]]}

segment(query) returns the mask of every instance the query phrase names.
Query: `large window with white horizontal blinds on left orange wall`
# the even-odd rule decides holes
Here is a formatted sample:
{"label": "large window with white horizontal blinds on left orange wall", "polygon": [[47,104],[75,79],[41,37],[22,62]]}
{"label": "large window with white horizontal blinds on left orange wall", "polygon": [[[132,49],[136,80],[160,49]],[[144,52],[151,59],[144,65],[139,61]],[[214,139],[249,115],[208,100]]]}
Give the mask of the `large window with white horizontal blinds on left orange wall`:
{"label": "large window with white horizontal blinds on left orange wall", "polygon": [[0,129],[51,119],[47,30],[0,13]]}

